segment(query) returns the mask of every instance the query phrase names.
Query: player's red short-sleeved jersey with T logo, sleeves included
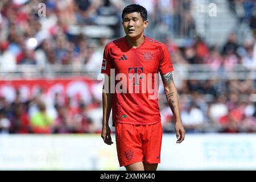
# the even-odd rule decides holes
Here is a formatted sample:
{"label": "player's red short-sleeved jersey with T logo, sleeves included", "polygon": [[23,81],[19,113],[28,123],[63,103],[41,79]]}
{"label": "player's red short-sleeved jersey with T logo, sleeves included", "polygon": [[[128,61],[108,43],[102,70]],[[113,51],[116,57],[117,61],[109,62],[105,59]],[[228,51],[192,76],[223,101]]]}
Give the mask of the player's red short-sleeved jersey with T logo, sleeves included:
{"label": "player's red short-sleeved jersey with T logo, sleeves included", "polygon": [[[154,99],[150,98],[153,95],[148,88],[143,85],[143,78],[151,78],[151,88],[155,88],[154,75],[161,75],[174,70],[171,57],[166,46],[157,40],[144,36],[143,43],[133,48],[127,44],[126,38],[119,38],[108,43],[104,50],[101,73],[106,73],[110,76],[110,69],[114,69],[115,75],[122,73],[126,76],[126,81],[129,85],[123,84],[122,87],[126,92],[119,93],[115,88],[112,96],[112,118],[114,122],[128,123],[135,125],[152,125],[160,122],[160,112],[158,106],[158,94]],[[151,74],[149,74],[151,73]],[[147,77],[148,76],[148,77]],[[119,79],[120,80],[120,79]],[[119,80],[115,79],[115,86]],[[148,79],[150,80],[150,79]],[[146,81],[148,82],[148,81]],[[133,87],[130,90],[130,88]],[[135,92],[139,88],[140,92]],[[158,85],[156,85],[158,89]],[[142,92],[142,90],[146,90]],[[157,90],[158,91],[158,90]],[[155,93],[154,93],[155,94]]]}

